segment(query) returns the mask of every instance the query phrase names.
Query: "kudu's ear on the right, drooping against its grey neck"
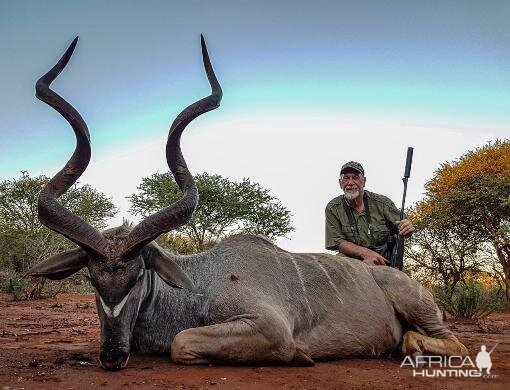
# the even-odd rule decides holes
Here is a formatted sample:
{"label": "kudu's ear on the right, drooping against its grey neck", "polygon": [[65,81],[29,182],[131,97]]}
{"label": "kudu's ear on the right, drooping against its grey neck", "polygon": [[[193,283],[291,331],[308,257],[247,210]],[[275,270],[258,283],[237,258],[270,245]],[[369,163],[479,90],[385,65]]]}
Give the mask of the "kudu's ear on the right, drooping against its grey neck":
{"label": "kudu's ear on the right, drooping against its grey neck", "polygon": [[157,244],[150,243],[142,251],[145,266],[153,269],[171,287],[197,292],[195,285],[175,262]]}

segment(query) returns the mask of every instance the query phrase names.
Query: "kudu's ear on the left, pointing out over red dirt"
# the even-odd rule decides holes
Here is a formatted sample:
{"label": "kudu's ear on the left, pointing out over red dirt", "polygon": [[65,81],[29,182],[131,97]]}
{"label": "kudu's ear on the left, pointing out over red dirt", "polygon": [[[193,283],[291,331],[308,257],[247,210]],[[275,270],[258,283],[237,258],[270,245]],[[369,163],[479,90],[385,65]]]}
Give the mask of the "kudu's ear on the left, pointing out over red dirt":
{"label": "kudu's ear on the left, pointing out over red dirt", "polygon": [[81,248],[72,249],[59,253],[55,256],[40,262],[30,268],[23,274],[23,278],[27,276],[44,276],[52,280],[65,279],[83,267],[86,267],[89,261],[87,252]]}

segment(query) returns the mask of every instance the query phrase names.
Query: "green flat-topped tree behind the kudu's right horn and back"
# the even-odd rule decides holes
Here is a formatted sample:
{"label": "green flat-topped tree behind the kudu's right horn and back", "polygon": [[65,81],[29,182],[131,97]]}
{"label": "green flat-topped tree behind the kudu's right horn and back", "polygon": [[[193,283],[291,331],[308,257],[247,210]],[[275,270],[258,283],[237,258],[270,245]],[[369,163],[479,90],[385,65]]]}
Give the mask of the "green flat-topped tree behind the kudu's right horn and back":
{"label": "green flat-topped tree behind the kudu's right horn and back", "polygon": [[[290,211],[259,184],[249,179],[233,182],[208,173],[194,178],[200,194],[198,206],[189,223],[163,239],[169,246],[178,242],[177,247],[184,247],[185,252],[199,252],[236,233],[261,234],[275,239],[294,230],[290,225]],[[169,173],[155,173],[143,178],[138,189],[140,193],[129,199],[131,211],[142,217],[182,197]],[[189,239],[192,249],[179,235]]]}

